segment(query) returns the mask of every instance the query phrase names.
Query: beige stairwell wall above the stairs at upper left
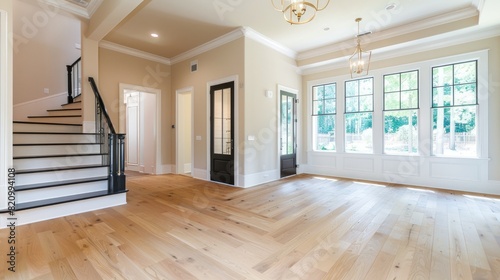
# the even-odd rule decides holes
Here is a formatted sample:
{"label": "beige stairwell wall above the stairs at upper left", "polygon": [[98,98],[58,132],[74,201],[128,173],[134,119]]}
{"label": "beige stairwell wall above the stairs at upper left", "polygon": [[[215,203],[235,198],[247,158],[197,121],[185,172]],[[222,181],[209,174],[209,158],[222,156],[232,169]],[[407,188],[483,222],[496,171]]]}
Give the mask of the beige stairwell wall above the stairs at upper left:
{"label": "beige stairwell wall above the stairs at upper left", "polygon": [[67,92],[66,65],[80,57],[80,21],[39,1],[13,2],[14,104]]}

